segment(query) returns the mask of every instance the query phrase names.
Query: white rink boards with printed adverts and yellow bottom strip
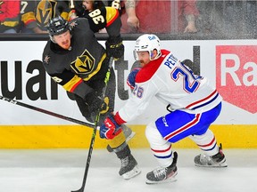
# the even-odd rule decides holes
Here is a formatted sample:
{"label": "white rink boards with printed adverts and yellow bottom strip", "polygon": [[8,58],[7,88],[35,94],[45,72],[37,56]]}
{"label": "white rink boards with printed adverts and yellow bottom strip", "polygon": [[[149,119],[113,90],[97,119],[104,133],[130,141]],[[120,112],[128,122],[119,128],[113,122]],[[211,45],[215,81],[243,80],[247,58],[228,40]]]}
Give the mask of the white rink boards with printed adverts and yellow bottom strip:
{"label": "white rink boards with printed adverts and yellow bottom strip", "polygon": [[[75,101],[46,76],[41,61],[45,44],[44,41],[0,42],[1,95],[8,93],[31,106],[85,121]],[[126,103],[130,94],[126,78],[134,63],[135,41],[124,41],[124,44],[124,60],[113,64],[118,83],[115,110]],[[179,60],[198,62],[201,75],[208,76],[223,97],[221,114],[211,130],[224,148],[257,148],[256,44],[257,40],[162,41],[162,47],[172,51]],[[133,148],[148,148],[145,125],[167,114],[165,107],[153,100],[142,116],[129,122],[137,132],[129,142]],[[88,148],[90,144],[92,129],[3,100],[0,108],[0,148]],[[95,148],[105,146],[104,140],[97,136]],[[191,140],[181,140],[176,146],[195,148]]]}

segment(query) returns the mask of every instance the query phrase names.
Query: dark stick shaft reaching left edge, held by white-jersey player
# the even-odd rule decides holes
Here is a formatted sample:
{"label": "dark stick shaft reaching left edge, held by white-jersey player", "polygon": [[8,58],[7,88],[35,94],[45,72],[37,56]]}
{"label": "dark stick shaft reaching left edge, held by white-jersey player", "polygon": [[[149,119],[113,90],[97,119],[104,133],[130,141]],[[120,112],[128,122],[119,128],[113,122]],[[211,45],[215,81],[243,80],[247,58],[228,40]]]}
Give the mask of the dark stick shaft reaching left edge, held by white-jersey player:
{"label": "dark stick shaft reaching left edge, held by white-jersey player", "polygon": [[88,124],[86,122],[79,121],[78,119],[74,119],[74,118],[71,118],[69,116],[62,116],[62,115],[54,113],[52,111],[48,111],[48,110],[46,110],[44,108],[37,108],[35,106],[31,106],[29,104],[23,103],[23,102],[18,101],[18,100],[12,100],[12,99],[4,97],[2,95],[0,95],[0,100],[5,100],[5,101],[7,101],[9,103],[12,103],[14,105],[18,105],[18,106],[21,106],[21,107],[24,107],[24,108],[29,108],[29,109],[32,109],[32,110],[35,110],[35,111],[47,114],[49,116],[55,116],[55,117],[64,119],[66,121],[70,121],[70,122],[75,123],[75,124],[81,124],[81,125],[85,125],[85,126],[88,126],[88,127],[91,127],[91,128],[95,128],[94,124]]}

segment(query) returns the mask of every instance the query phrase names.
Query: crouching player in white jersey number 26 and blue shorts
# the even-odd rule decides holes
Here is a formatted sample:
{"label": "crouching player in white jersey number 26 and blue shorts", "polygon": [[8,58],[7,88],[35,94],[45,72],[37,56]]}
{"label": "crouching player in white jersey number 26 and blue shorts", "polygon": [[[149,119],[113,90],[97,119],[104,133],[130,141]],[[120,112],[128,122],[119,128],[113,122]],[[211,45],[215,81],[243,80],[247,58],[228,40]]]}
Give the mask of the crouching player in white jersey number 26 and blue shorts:
{"label": "crouching player in white jersey number 26 and blue shorts", "polygon": [[120,130],[120,124],[141,115],[156,97],[171,110],[145,129],[153,156],[160,165],[146,174],[147,184],[176,180],[178,154],[172,151],[171,144],[187,137],[203,150],[203,154],[195,156],[195,165],[228,166],[221,146],[209,129],[221,110],[222,98],[216,88],[207,78],[195,75],[170,51],[161,50],[158,36],[139,36],[134,53],[142,68],[129,74],[132,96],[115,115],[105,118],[100,128],[101,138],[112,138]]}

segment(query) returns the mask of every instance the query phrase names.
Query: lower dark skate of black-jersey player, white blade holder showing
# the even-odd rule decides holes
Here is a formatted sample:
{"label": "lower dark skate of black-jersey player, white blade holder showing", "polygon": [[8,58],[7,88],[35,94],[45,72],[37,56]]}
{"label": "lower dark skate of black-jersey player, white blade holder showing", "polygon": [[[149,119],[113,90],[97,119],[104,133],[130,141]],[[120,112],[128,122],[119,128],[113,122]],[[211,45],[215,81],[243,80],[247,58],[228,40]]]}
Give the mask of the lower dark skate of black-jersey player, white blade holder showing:
{"label": "lower dark skate of black-jersey player, white blade holder showing", "polygon": [[121,167],[119,174],[123,177],[124,180],[129,180],[130,178],[137,176],[137,174],[141,172],[137,167],[136,159],[131,154],[120,160]]}

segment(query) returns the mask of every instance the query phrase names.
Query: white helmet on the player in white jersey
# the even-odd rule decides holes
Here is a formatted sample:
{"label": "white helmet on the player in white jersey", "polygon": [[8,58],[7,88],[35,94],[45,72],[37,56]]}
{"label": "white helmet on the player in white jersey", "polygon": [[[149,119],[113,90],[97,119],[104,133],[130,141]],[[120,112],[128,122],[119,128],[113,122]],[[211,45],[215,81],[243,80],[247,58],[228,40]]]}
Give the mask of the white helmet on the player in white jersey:
{"label": "white helmet on the player in white jersey", "polygon": [[[152,59],[153,50],[157,51],[157,55]],[[138,60],[137,52],[149,52],[150,60],[156,60],[161,55],[161,43],[158,36],[153,34],[145,34],[137,38],[134,50],[135,60]]]}

